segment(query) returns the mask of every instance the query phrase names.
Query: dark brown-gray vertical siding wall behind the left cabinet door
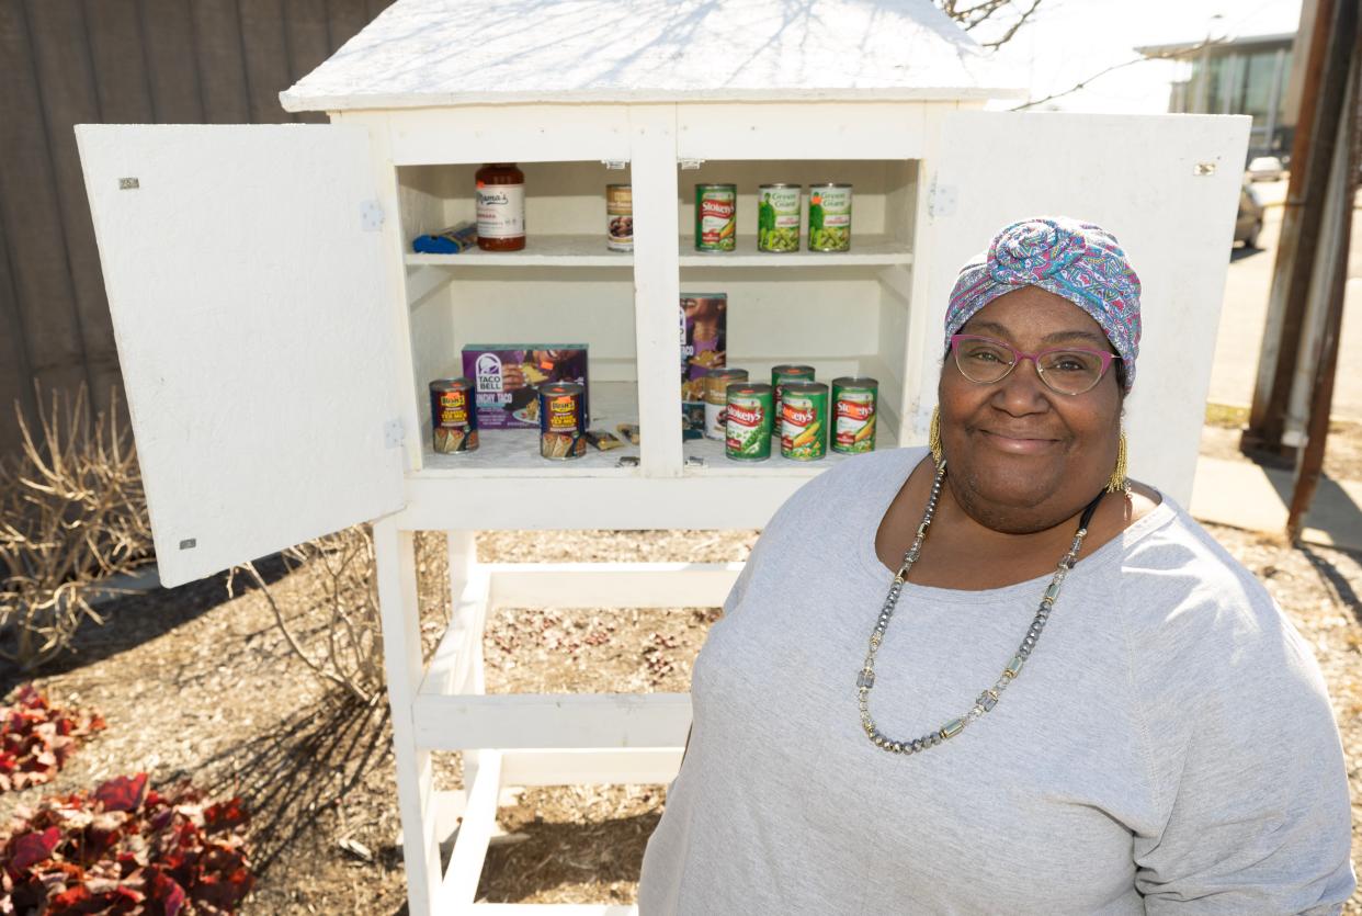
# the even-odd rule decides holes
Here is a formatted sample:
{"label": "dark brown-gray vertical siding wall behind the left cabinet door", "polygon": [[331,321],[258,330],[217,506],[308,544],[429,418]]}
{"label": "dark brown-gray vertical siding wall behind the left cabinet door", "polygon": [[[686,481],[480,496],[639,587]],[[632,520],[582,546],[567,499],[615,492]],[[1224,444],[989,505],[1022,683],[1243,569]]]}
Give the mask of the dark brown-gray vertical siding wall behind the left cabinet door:
{"label": "dark brown-gray vertical siding wall behind the left cabinet door", "polygon": [[72,127],[324,121],[278,93],[390,1],[0,0],[0,458],[34,380],[120,384]]}

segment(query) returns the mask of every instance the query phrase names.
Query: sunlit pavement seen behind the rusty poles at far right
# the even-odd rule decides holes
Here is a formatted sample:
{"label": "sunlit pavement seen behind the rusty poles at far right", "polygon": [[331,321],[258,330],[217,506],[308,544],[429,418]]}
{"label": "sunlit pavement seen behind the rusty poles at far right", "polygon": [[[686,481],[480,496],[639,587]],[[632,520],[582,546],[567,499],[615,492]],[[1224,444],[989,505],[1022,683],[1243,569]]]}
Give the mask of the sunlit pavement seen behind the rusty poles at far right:
{"label": "sunlit pavement seen behind the rusty poles at far right", "polygon": [[[1253,401],[1258,348],[1263,344],[1263,324],[1282,229],[1280,202],[1286,196],[1286,180],[1260,183],[1254,188],[1268,207],[1258,251],[1235,248],[1230,259],[1215,363],[1211,368],[1209,399],[1215,403],[1248,405]],[[1332,414],[1362,420],[1362,210],[1358,209],[1352,213],[1351,255]]]}

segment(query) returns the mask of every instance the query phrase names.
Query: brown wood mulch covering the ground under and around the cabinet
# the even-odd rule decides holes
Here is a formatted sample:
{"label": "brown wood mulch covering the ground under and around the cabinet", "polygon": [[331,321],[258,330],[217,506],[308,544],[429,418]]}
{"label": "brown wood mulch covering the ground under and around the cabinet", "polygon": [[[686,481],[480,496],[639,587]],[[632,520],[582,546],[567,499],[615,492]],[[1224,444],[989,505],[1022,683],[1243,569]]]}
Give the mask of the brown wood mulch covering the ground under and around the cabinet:
{"label": "brown wood mulch covering the ground under and around the cabinet", "polygon": [[[1331,446],[1332,447],[1332,446]],[[1291,548],[1212,528],[1253,570],[1316,652],[1333,699],[1354,797],[1362,800],[1362,555]],[[485,562],[742,560],[753,532],[490,532]],[[327,617],[315,574],[263,566],[305,639]],[[424,635],[437,639],[449,598],[443,538],[418,537]],[[238,582],[240,585],[240,582]],[[240,793],[253,811],[260,881],[245,913],[399,913],[405,906],[399,821],[385,703],[362,706],[297,661],[256,590],[229,598],[223,577],[106,605],[76,653],[37,679],[53,701],[108,721],[45,787],[0,795],[5,821],[49,793],[146,770],[155,784],[192,778]],[[556,611],[505,608],[488,622],[488,690],[681,691],[712,608]],[[20,683],[0,669],[0,690]],[[437,755],[443,787],[459,784],[456,754]],[[511,793],[479,897],[523,902],[628,902],[665,803],[665,787],[533,788]],[[1354,807],[1354,861],[1362,861]],[[1362,894],[1346,912],[1362,915]]]}

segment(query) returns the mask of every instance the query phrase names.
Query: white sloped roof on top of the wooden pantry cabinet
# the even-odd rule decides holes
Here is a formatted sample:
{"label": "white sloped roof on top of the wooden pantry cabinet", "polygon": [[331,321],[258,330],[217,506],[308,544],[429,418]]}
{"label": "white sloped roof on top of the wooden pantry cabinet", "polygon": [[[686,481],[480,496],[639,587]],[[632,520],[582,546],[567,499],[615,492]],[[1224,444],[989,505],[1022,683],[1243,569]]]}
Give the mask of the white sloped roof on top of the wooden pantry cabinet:
{"label": "white sloped roof on top of the wooden pantry cabinet", "polygon": [[930,0],[398,0],[279,98],[301,112],[1022,87]]}

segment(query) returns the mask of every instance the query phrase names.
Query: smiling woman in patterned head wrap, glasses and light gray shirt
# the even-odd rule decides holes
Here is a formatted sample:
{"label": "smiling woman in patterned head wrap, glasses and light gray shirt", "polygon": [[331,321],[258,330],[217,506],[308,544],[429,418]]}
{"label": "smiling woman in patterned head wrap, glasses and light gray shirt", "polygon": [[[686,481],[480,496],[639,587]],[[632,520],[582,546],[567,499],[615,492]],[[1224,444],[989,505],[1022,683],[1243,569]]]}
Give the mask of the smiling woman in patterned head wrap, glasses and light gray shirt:
{"label": "smiling woman in patterned head wrap, glasses and light gray shirt", "polygon": [[1008,226],[945,341],[930,448],[816,477],[729,596],[640,912],[1337,912],[1314,658],[1126,478],[1115,239]]}

